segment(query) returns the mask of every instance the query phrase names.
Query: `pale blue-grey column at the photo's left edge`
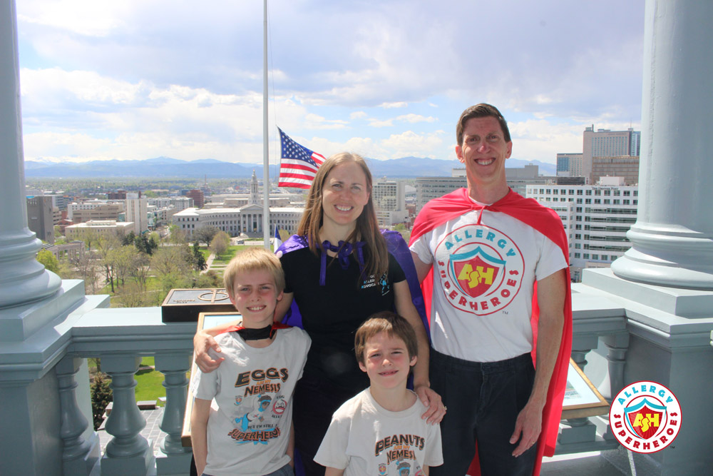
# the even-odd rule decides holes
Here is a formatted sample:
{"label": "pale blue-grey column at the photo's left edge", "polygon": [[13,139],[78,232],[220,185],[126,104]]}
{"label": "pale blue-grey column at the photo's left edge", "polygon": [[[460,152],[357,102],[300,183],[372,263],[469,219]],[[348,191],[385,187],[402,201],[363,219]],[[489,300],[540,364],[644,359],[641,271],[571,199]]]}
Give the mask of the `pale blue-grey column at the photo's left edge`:
{"label": "pale blue-grey column at the photo's left edge", "polygon": [[[35,260],[41,242],[27,228],[20,76],[14,0],[0,0],[0,309],[55,293],[59,277]],[[4,325],[0,322],[0,332]]]}

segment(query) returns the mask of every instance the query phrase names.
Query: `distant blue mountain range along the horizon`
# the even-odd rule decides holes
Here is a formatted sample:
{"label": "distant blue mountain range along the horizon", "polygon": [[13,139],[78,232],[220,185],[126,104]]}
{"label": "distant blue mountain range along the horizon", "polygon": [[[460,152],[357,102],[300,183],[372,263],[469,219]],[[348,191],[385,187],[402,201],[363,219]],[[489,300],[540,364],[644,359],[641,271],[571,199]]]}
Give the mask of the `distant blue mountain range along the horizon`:
{"label": "distant blue mountain range along the horizon", "polygon": [[[388,161],[366,159],[375,177],[415,178],[424,176],[451,176],[460,164],[452,160],[423,157],[402,157]],[[516,168],[527,164],[540,167],[540,175],[555,175],[555,165],[540,161],[510,158],[506,167]],[[157,157],[143,161],[89,161],[44,162],[25,161],[25,176],[33,178],[250,178],[255,171],[262,178],[262,164],[232,163],[203,158],[182,161],[177,158]],[[276,177],[278,166],[270,166],[270,176]]]}

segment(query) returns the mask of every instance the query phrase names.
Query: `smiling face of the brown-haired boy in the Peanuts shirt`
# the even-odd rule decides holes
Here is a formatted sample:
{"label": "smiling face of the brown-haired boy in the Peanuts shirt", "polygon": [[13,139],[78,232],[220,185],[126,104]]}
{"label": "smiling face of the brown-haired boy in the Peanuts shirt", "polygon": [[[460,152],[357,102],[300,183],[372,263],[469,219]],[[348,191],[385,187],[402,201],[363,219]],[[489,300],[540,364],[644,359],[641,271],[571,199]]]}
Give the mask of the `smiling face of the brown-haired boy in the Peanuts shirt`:
{"label": "smiling face of the brown-haired boy in the Peanuts shirt", "polygon": [[371,386],[396,388],[409,378],[411,366],[416,365],[416,355],[409,358],[406,343],[395,335],[381,332],[366,340],[364,363],[359,368],[369,375]]}

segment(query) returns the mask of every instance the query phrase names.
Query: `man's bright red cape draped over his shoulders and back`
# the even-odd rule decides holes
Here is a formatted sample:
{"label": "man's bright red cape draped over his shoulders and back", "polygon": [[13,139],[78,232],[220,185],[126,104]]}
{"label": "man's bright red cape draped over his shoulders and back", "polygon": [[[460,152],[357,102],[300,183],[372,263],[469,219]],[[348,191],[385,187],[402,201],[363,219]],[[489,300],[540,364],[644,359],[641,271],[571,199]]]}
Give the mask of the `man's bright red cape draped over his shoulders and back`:
{"label": "man's bright red cape draped over his shoulders and back", "polygon": [[[562,226],[562,221],[555,211],[550,208],[541,206],[532,198],[523,198],[513,191],[501,198],[501,200],[488,206],[481,206],[475,203],[468,196],[466,188],[448,193],[441,198],[436,198],[426,203],[426,206],[421,210],[419,216],[416,217],[414,230],[411,232],[411,243],[419,238],[424,233],[427,233],[437,226],[446,223],[453,218],[467,213],[468,211],[480,211],[485,208],[488,211],[501,212],[509,215],[516,220],[519,220],[525,225],[535,228],[544,236],[550,238],[562,250],[562,254],[569,265],[569,248],[567,244],[567,235]],[[540,474],[540,465],[542,465],[542,457],[552,456],[555,453],[555,445],[557,444],[557,434],[560,425],[560,416],[562,414],[562,401],[565,395],[565,386],[567,385],[567,370],[570,361],[570,353],[572,352],[572,292],[570,290],[570,269],[565,268],[567,292],[565,294],[565,323],[562,329],[562,340],[560,341],[560,351],[555,363],[552,378],[550,379],[550,387],[547,392],[547,402],[542,412],[543,425],[540,438],[538,440],[538,455],[535,460],[535,469],[533,475]],[[421,289],[424,292],[424,302],[426,304],[426,313],[431,319],[431,295],[433,293],[433,268],[429,275],[424,278],[421,283]],[[535,291],[533,295],[533,315],[530,323],[533,327],[533,363],[535,363],[535,352],[537,347],[537,331],[538,320],[540,317],[540,308],[537,302],[537,283],[535,283]],[[476,460],[473,460],[470,475],[480,474],[480,467]]]}

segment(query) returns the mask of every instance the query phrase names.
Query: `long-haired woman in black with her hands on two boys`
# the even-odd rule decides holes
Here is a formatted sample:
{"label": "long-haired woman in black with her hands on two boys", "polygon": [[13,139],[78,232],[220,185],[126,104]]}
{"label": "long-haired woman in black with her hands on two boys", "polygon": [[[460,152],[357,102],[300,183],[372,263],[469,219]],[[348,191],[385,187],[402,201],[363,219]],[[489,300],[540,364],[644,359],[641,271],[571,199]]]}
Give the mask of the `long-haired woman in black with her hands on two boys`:
{"label": "long-haired woman in black with her hands on two boys", "polygon": [[[302,379],[294,393],[295,446],[307,475],[324,475],[312,461],[342,402],[369,385],[354,357],[356,328],[381,310],[396,309],[419,338],[414,390],[429,409],[424,418],[441,421],[445,407],[429,388],[429,342],[411,302],[409,284],[376,223],[371,201],[371,173],[360,156],[338,153],[319,167],[309,189],[297,236],[286,243],[280,261],[287,286],[275,320],[282,320],[292,300],[302,314],[302,327],[312,338]],[[227,325],[225,326],[227,327]],[[210,334],[194,338],[196,363],[204,371],[217,367],[206,350]]]}

